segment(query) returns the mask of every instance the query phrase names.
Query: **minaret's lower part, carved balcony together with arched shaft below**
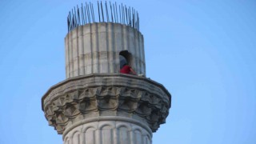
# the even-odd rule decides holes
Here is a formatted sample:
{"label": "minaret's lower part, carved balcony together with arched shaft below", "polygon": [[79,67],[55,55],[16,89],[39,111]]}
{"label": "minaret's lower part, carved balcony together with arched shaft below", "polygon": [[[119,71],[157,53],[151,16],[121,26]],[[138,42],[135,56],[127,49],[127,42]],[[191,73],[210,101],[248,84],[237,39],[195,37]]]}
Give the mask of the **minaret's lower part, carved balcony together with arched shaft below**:
{"label": "minaret's lower part, carved balcony together with arched shaft below", "polygon": [[42,97],[46,119],[64,144],[150,144],[169,108],[161,84],[128,74],[68,78]]}

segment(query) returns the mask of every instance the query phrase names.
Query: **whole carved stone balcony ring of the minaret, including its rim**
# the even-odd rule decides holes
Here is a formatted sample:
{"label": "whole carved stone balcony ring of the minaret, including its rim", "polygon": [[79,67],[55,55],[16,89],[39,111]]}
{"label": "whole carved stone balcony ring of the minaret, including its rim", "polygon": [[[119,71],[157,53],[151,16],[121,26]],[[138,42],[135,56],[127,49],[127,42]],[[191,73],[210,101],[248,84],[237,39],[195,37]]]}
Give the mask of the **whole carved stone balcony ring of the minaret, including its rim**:
{"label": "whole carved stone balcony ring of the minaret, including its rim", "polygon": [[154,132],[165,123],[170,102],[170,93],[148,78],[90,74],[51,87],[42,97],[42,110],[58,134],[67,125],[98,116],[134,118]]}

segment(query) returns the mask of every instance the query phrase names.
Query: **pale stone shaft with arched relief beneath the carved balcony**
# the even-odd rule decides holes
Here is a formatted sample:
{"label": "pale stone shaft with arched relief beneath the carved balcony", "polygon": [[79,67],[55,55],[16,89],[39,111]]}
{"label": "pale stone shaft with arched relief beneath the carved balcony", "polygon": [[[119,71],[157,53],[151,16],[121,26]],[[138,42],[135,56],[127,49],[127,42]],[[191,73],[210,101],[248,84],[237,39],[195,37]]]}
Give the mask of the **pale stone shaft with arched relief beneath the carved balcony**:
{"label": "pale stone shaft with arched relief beneath the carved balcony", "polygon": [[64,144],[151,144],[152,131],[142,122],[125,117],[86,118],[66,126]]}

